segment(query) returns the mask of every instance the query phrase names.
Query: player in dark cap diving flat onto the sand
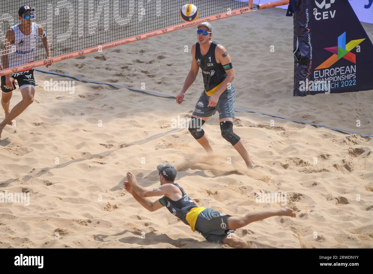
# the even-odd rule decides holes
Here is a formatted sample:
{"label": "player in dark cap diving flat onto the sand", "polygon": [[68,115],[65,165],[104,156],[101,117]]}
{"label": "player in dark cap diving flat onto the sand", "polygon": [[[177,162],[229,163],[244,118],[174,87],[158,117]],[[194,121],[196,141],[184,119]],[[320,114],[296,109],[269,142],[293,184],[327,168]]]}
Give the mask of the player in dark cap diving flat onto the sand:
{"label": "player in dark cap diving flat onto the sand", "polygon": [[[176,169],[170,164],[158,165],[159,180],[161,186],[148,190],[143,188],[136,181],[136,177],[131,172],[127,173],[127,181],[124,188],[144,208],[149,211],[156,211],[166,207],[173,215],[178,217],[183,223],[190,226],[192,231],[198,231],[206,240],[214,243],[224,243],[233,248],[276,248],[255,240],[246,242],[239,238],[234,231],[252,222],[264,220],[272,216],[295,217],[295,212],[287,207],[280,210],[263,210],[261,212],[250,212],[245,216],[231,216],[222,214],[211,208],[198,207],[184,190],[175,183]],[[151,201],[146,197],[163,196]]]}

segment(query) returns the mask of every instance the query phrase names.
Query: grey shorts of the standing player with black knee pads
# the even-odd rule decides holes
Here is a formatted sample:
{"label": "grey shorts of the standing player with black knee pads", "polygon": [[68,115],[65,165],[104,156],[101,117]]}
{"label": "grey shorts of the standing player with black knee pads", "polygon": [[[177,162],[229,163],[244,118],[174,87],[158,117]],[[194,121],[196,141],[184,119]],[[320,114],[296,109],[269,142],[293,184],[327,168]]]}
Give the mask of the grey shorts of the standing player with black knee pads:
{"label": "grey shorts of the standing player with black knee pads", "polygon": [[233,83],[231,84],[231,89],[226,89],[222,95],[220,95],[216,107],[207,107],[207,105],[209,105],[209,98],[206,92],[203,91],[192,114],[200,117],[210,117],[217,111],[219,113],[219,119],[234,117],[236,90]]}

